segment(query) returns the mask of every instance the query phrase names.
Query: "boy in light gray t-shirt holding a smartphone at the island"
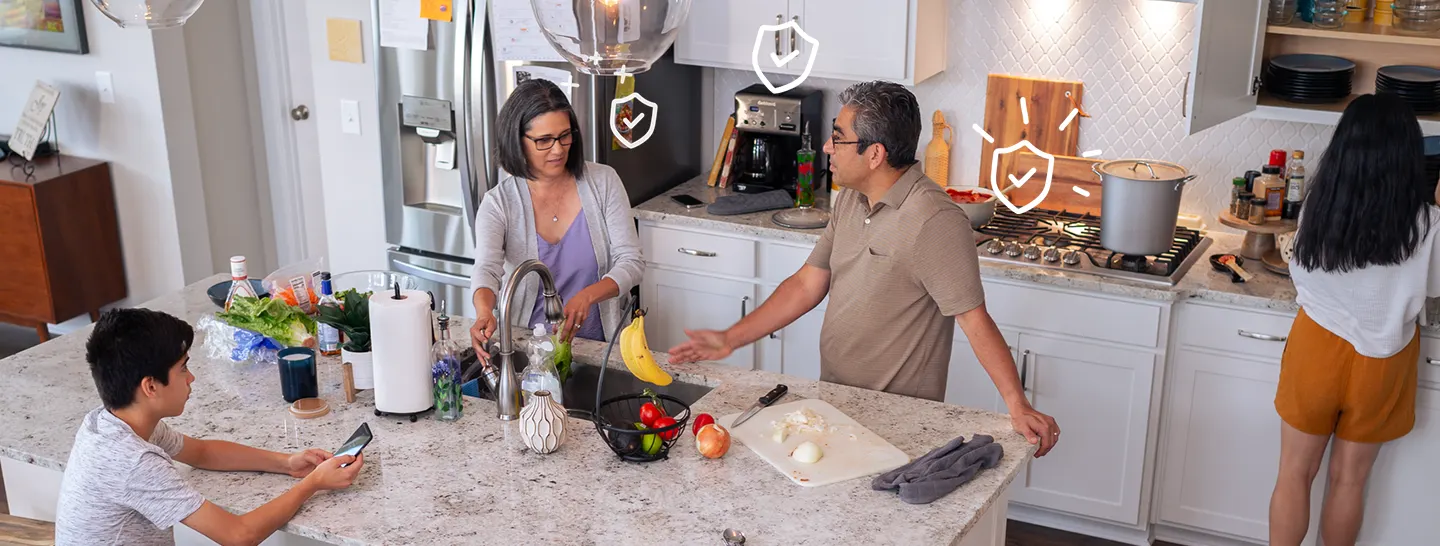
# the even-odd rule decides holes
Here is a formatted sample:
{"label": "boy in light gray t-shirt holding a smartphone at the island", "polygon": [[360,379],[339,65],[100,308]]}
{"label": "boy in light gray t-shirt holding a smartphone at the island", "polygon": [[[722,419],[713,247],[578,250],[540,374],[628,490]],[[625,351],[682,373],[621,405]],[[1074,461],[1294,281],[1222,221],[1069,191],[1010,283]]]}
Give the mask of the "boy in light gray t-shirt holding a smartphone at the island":
{"label": "boy in light gray t-shirt holding a smartphone at the island", "polygon": [[[101,317],[85,346],[104,406],[85,415],[60,484],[56,545],[173,545],[184,523],[222,545],[259,543],[323,490],[348,487],[364,457],[323,449],[279,454],[196,439],[161,421],[190,398],[194,330],[164,313],[127,308]],[[262,471],[302,478],[246,514],[230,514],[180,478],[173,461],[216,471]],[[354,462],[341,468],[341,464]]]}

